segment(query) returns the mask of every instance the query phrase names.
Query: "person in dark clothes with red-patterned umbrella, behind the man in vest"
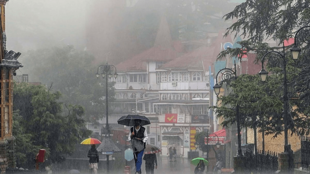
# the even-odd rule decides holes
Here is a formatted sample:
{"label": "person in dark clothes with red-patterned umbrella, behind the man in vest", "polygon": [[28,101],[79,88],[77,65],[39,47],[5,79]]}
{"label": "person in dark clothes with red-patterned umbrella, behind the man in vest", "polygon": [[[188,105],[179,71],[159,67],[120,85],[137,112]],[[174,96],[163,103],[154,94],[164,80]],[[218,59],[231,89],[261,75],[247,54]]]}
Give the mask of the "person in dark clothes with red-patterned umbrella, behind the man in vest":
{"label": "person in dark clothes with red-patterned umbrella, behind the man in vest", "polygon": [[147,144],[144,150],[144,157],[145,160],[145,172],[146,174],[154,174],[154,163],[155,169],[157,169],[157,157],[156,153],[162,151],[160,147],[155,145]]}

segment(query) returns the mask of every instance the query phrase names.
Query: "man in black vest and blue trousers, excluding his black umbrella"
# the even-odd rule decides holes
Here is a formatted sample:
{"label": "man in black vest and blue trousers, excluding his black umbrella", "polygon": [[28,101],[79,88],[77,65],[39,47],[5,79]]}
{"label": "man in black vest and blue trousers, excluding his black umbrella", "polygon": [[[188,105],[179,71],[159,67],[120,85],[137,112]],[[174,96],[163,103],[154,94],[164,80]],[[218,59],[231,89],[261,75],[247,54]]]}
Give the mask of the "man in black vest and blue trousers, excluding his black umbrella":
{"label": "man in black vest and blue trousers, excluding his black umbrella", "polygon": [[[136,173],[135,174],[141,174],[141,164],[142,164],[142,156],[145,149],[145,141],[148,140],[148,134],[145,131],[145,128],[140,125],[141,120],[135,119],[135,126],[130,129],[130,133],[128,135],[128,140],[131,141],[141,141],[143,142],[144,148],[143,150],[139,151],[136,147],[133,147],[134,151],[134,159],[135,159],[135,165],[136,165]],[[138,143],[135,143],[138,144]]]}

